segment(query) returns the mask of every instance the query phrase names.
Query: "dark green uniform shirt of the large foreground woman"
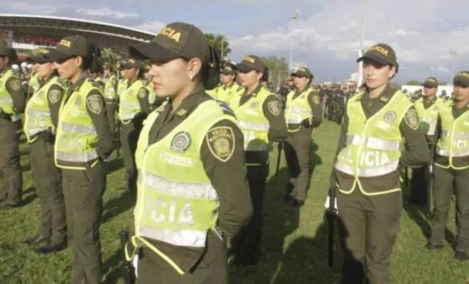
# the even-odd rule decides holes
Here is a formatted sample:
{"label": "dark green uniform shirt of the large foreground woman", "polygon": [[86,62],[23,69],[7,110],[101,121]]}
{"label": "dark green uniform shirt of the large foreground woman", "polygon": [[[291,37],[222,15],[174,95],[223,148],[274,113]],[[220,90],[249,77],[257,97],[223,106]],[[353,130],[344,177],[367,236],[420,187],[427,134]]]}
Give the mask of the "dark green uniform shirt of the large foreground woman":
{"label": "dark green uniform shirt of the large foreground woman", "polygon": [[[170,133],[178,124],[191,114],[196,107],[207,99],[212,99],[200,84],[188,97],[183,99],[178,109],[171,112],[172,104],[166,104],[161,110],[161,114],[156,119],[149,133],[149,145],[156,143]],[[227,111],[227,113],[230,113]],[[232,115],[232,113],[230,113]],[[233,131],[233,138],[230,143],[234,143],[234,151],[225,162],[217,158],[210,150],[209,142],[205,139],[200,148],[200,158],[203,160],[205,173],[215,188],[219,202],[218,224],[224,236],[232,237],[239,229],[249,221],[252,212],[251,197],[249,191],[239,190],[249,187],[246,180],[246,168],[244,165],[244,147],[241,131],[233,121],[223,119],[217,122],[211,129],[217,127],[230,128]],[[210,130],[209,130],[210,131]],[[157,246],[171,259],[178,260],[181,267],[191,267],[193,263],[203,256],[203,251],[188,249],[184,247],[168,246],[162,242],[152,241],[153,246]]]}

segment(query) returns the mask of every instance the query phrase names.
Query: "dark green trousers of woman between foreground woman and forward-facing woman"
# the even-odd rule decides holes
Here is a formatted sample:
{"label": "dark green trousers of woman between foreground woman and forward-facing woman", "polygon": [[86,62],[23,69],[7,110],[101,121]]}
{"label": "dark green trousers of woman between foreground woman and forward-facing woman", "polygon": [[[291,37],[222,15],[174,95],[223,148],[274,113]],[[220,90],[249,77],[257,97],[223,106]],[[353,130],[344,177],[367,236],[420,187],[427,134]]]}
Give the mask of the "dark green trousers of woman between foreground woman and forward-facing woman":
{"label": "dark green trousers of woman between foreground woman and forward-facing woman", "polygon": [[286,194],[296,200],[306,200],[309,186],[312,129],[300,129],[289,133],[284,143],[285,160],[289,169]]}

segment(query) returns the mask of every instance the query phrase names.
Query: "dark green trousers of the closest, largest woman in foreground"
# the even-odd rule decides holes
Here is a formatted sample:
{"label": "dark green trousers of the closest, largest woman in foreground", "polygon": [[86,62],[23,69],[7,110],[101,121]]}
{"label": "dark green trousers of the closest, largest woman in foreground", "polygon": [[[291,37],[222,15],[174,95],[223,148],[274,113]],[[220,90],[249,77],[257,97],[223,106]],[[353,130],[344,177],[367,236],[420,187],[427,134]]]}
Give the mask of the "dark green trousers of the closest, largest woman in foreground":
{"label": "dark green trousers of the closest, largest woman in foreground", "polygon": [[137,284],[227,284],[225,241],[209,231],[207,251],[193,271],[180,275],[150,249],[144,248],[137,265]]}

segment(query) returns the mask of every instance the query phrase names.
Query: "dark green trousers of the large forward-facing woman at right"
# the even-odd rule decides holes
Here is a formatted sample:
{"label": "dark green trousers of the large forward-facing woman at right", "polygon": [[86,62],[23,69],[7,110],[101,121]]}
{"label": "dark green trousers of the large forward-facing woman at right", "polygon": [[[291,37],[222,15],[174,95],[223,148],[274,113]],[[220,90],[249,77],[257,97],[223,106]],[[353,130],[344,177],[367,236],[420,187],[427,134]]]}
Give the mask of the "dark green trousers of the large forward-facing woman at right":
{"label": "dark green trousers of the large forward-facing woman at right", "polygon": [[401,192],[366,196],[355,187],[338,194],[343,284],[390,283],[392,247],[399,232]]}

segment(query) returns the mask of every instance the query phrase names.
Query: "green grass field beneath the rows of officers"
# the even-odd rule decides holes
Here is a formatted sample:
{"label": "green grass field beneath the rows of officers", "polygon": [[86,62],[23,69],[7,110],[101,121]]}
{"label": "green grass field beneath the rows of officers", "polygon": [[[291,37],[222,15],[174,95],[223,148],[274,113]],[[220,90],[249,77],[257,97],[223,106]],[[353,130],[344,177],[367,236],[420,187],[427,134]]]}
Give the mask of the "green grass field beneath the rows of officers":
{"label": "green grass field beneath the rows of officers", "polygon": [[[324,222],[324,200],[328,189],[333,153],[339,126],[325,121],[313,134],[314,169],[308,200],[301,210],[279,201],[286,182],[285,161],[274,176],[276,152],[271,153],[265,205],[262,258],[256,266],[232,268],[230,283],[339,283],[342,262],[337,241],[335,267],[327,263],[327,226]],[[0,284],[69,283],[72,253],[70,249],[55,255],[40,256],[21,242],[38,231],[40,205],[31,180],[26,146],[21,146],[24,170],[23,207],[0,212]],[[283,157],[282,157],[283,159]],[[124,182],[122,160],[114,160],[104,194],[101,244],[107,283],[119,280],[119,230],[132,226],[133,197],[118,190]],[[406,195],[406,192],[404,192]],[[454,204],[453,204],[454,207]],[[424,249],[430,223],[413,206],[404,207],[401,232],[392,257],[392,283],[469,283],[469,261],[453,258],[455,245],[454,211],[448,222],[447,243],[441,251]],[[337,231],[337,230],[336,230]]]}

